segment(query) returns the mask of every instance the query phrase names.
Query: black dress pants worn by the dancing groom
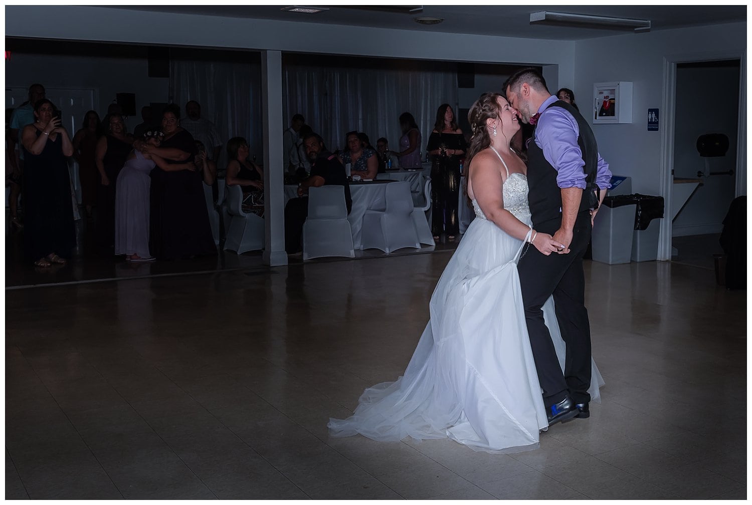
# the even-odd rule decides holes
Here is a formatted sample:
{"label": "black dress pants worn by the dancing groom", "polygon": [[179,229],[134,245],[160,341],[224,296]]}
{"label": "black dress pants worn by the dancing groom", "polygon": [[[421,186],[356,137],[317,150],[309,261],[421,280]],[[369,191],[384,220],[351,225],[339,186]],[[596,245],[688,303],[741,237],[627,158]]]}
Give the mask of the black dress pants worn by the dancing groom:
{"label": "black dress pants worn by the dancing groom", "polygon": [[[560,226],[559,218],[533,228],[553,235]],[[575,221],[569,254],[545,256],[535,246],[530,246],[517,264],[530,346],[546,407],[558,404],[566,395],[577,404],[590,401],[587,389],[590,387],[592,356],[582,258],[591,231],[590,213],[586,210],[579,213]],[[556,319],[566,343],[563,373],[541,310],[550,295],[553,295]]]}

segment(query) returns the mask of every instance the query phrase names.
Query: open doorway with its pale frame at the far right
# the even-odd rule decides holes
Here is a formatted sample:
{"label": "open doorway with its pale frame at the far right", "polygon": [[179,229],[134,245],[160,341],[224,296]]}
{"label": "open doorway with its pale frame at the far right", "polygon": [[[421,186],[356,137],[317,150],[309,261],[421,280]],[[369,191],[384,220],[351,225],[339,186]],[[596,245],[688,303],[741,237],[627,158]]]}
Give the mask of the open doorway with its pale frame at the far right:
{"label": "open doorway with its pale frame at the far right", "polygon": [[[698,249],[717,249],[723,219],[735,196],[746,193],[746,79],[740,54],[698,56],[664,62],[663,177],[666,203],[658,259],[683,258],[678,245],[703,240]],[[711,109],[702,104],[714,93]],[[723,95],[723,96],[721,96]],[[729,138],[724,156],[702,157],[700,135]],[[685,253],[687,247],[684,246]],[[712,259],[708,260],[710,263]]]}

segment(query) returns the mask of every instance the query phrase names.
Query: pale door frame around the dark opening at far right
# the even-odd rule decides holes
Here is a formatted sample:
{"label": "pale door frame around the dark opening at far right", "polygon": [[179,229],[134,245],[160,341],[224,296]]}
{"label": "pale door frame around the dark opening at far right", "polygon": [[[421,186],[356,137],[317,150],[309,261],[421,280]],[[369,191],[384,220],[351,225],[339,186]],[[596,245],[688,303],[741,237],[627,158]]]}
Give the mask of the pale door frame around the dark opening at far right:
{"label": "pale door frame around the dark opening at far right", "polygon": [[[663,195],[664,219],[661,219],[660,238],[658,240],[658,260],[670,261],[672,249],[673,224],[670,219],[674,176],[674,142],[676,129],[676,67],[679,63],[708,62],[722,59],[739,60],[739,112],[736,136],[736,183],[735,195],[747,194],[747,63],[746,51],[720,51],[714,53],[690,53],[665,56],[663,58],[663,117],[666,118],[661,134],[661,174],[659,193]],[[720,86],[720,85],[719,85]],[[666,209],[669,209],[666,212]]]}

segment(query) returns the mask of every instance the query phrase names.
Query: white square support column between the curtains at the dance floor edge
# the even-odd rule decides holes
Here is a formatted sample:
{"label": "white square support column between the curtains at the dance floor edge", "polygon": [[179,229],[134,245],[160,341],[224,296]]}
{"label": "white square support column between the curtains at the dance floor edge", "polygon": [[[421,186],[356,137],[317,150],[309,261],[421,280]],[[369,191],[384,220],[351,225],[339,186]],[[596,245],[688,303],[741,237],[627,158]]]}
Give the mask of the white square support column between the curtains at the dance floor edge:
{"label": "white square support column between the curtains at the dance floor edge", "polygon": [[264,264],[287,265],[284,250],[284,174],[282,170],[282,53],[261,52],[264,130]]}

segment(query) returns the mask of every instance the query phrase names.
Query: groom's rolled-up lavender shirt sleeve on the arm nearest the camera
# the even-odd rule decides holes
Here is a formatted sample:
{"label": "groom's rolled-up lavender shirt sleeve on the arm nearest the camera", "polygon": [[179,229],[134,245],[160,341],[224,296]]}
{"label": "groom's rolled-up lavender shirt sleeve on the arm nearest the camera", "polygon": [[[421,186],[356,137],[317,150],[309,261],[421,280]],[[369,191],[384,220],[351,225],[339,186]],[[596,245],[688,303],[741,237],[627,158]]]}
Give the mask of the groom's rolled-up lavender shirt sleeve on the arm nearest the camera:
{"label": "groom's rolled-up lavender shirt sleeve on the arm nearest the camera", "polygon": [[535,129],[535,144],[547,162],[556,169],[559,188],[585,189],[585,162],[577,144],[580,128],[566,110],[551,107],[541,114]]}

